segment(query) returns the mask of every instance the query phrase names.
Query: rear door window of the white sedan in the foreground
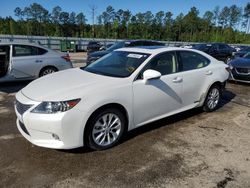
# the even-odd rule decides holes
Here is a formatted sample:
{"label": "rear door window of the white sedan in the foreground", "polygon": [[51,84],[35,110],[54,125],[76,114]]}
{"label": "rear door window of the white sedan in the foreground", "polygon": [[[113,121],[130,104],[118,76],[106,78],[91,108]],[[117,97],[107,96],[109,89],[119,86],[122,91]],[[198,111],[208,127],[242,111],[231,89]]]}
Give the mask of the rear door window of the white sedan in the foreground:
{"label": "rear door window of the white sedan in the foreground", "polygon": [[199,69],[206,67],[210,63],[206,57],[195,52],[182,51],[179,54],[182,62],[182,71]]}

